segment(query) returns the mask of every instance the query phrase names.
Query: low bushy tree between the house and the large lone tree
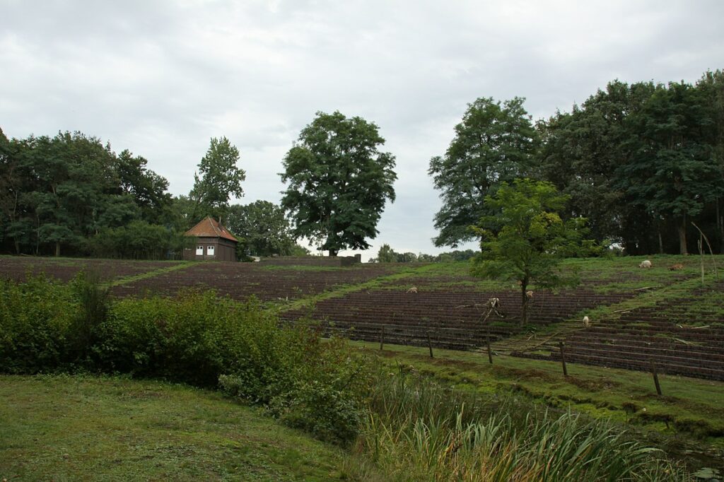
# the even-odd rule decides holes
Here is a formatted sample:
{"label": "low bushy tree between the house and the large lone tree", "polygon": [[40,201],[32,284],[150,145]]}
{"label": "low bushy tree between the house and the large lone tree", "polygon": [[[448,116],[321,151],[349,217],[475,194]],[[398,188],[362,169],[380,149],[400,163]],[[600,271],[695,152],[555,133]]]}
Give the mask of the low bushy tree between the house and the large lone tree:
{"label": "low bushy tree between the house and the large lone tree", "polygon": [[224,224],[234,233],[243,255],[290,255],[294,241],[282,208],[265,200],[229,208]]}

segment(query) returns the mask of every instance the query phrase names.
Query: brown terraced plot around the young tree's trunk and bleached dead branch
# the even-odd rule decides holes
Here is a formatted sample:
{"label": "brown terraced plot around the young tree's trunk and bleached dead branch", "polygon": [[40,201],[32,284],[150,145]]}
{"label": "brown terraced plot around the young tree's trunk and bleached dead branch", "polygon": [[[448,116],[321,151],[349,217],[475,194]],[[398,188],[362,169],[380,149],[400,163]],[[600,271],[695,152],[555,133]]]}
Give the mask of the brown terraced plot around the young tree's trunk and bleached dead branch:
{"label": "brown terraced plot around the young tree's trunk and bleached dead branch", "polygon": [[[578,290],[552,294],[540,292],[529,308],[529,321],[544,326],[563,321],[584,309],[618,303],[631,295],[599,295]],[[500,312],[485,319],[490,297],[500,299]],[[321,321],[330,332],[340,332],[350,339],[378,341],[384,326],[384,339],[395,344],[425,345],[452,350],[480,347],[486,339],[518,334],[521,328],[521,294],[503,292],[426,291],[416,293],[392,289],[353,292],[344,297],[322,300],[313,310],[282,313],[285,321],[309,316]]]}

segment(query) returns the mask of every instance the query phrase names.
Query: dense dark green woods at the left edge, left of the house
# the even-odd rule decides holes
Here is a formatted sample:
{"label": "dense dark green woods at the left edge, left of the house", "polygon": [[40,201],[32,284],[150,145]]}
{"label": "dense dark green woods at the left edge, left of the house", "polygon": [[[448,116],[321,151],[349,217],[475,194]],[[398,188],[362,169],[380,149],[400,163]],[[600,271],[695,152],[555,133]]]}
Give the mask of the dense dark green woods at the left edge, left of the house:
{"label": "dense dark green woods at the left edge, left of the house", "polygon": [[80,132],[12,140],[0,132],[1,245],[16,254],[87,254],[108,229],[167,221],[168,182],[146,163]]}

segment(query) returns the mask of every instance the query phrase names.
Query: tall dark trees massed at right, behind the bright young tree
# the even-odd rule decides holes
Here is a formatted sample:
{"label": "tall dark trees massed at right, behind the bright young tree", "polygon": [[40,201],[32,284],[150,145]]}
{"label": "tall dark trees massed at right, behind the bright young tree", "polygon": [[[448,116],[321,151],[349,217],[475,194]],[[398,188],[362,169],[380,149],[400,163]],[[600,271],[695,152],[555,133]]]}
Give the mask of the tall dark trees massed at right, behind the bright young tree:
{"label": "tall dark trees massed at right, behind the bright young tree", "polygon": [[626,253],[689,253],[692,222],[722,252],[724,72],[693,85],[615,80],[535,124],[521,98],[479,98],[429,174],[443,198],[438,246],[476,239],[486,196],[528,177],[552,182],[570,197],[564,217],[588,219],[595,240]]}

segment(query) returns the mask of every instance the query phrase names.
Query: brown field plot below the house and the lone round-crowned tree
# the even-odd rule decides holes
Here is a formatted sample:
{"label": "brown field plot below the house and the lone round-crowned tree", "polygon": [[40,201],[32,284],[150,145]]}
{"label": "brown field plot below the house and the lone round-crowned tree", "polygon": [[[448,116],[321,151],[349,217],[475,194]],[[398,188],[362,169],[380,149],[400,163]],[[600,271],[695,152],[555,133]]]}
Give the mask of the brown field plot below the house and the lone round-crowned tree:
{"label": "brown field plot below the house and the lone round-crowned tree", "polygon": [[397,271],[395,266],[353,268],[264,266],[262,263],[194,263],[186,269],[116,286],[115,297],[175,296],[184,289],[214,289],[219,296],[262,301],[292,300],[316,295],[342,284],[357,284]]}

